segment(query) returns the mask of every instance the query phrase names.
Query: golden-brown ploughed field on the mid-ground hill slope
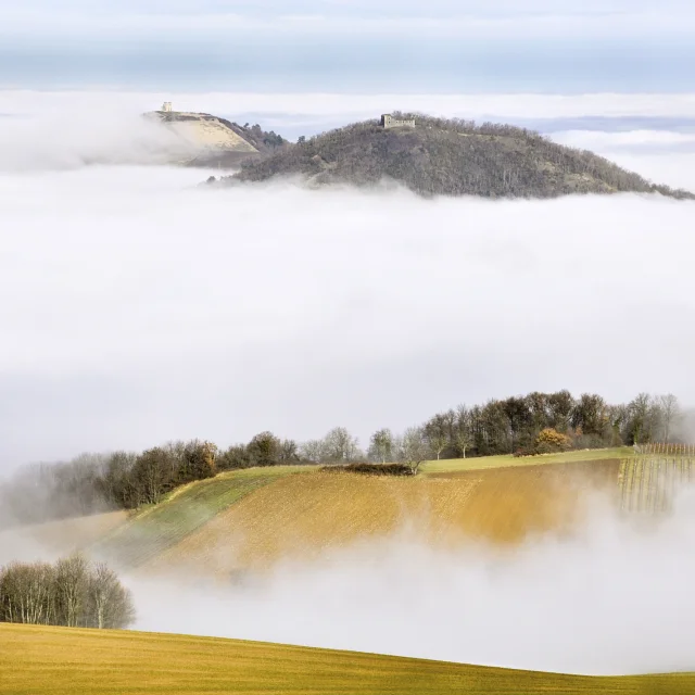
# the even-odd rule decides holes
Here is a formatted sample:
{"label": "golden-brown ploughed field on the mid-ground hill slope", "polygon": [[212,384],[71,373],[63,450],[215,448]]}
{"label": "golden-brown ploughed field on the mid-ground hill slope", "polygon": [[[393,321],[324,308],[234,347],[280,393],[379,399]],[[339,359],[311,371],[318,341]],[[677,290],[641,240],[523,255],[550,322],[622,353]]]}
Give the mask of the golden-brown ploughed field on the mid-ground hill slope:
{"label": "golden-brown ploughed field on the mid-ground hill slope", "polygon": [[229,577],[395,533],[442,547],[565,533],[592,492],[617,494],[619,466],[608,459],[416,478],[303,472],[249,494],[142,569]]}

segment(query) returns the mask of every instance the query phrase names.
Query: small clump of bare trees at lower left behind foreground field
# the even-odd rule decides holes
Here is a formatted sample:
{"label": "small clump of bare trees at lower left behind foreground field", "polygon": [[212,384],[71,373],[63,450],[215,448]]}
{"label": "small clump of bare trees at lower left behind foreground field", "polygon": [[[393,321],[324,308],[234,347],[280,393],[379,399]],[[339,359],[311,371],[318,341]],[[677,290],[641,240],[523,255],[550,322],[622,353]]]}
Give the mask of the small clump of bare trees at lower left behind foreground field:
{"label": "small clump of bare trees at lower left behind foreground field", "polygon": [[116,573],[81,555],[0,568],[0,622],[125,629],[135,617],[131,594]]}

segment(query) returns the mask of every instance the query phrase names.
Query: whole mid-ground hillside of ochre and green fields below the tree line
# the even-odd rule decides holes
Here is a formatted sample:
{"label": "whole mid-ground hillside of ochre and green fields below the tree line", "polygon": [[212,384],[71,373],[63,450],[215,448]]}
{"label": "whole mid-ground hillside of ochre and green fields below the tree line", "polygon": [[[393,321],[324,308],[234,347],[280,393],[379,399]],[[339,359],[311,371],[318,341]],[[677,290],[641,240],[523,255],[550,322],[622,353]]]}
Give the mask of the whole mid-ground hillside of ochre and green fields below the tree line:
{"label": "whole mid-ground hillside of ochre and green fields below the tree line", "polygon": [[[228,577],[400,534],[431,546],[514,544],[565,533],[592,492],[618,494],[624,450],[429,462],[416,477],[312,466],[224,472],[161,504],[23,529],[40,547],[81,547],[124,571]],[[591,457],[587,460],[587,457]],[[0,549],[1,549],[0,538]]]}

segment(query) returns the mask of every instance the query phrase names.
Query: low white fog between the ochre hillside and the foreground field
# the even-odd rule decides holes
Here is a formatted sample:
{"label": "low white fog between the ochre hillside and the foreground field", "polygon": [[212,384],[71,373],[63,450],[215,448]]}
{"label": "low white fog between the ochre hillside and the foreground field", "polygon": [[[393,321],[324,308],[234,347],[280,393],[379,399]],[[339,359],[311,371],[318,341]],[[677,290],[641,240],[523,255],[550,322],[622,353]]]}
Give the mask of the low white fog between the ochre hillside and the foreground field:
{"label": "low white fog between the ochre hillside and the foreground field", "polygon": [[[645,526],[646,525],[646,526]],[[222,548],[220,548],[222,549]],[[231,548],[226,548],[230,552]],[[138,629],[587,674],[693,670],[695,496],[656,526],[596,501],[503,553],[365,542],[225,590],[132,580]]]}

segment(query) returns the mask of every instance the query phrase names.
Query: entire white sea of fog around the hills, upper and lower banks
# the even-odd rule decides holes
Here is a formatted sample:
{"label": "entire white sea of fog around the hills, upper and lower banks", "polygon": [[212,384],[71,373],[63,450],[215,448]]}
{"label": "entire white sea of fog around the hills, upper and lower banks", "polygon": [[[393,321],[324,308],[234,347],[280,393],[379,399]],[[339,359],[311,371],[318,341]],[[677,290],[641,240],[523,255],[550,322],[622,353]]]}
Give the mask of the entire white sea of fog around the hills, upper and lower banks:
{"label": "entire white sea of fog around the hills, upper and lower banks", "polygon": [[[165,97],[0,91],[0,472],[266,429],[305,440],[344,426],[364,444],[380,427],[532,390],[695,402],[694,203],[211,189],[199,186],[208,172],[156,164],[170,142],[137,114]],[[294,136],[397,106],[545,123],[560,142],[695,190],[687,96],[175,102]],[[254,590],[128,581],[141,629],[595,673],[693,669],[694,503],[646,532],[601,508],[571,539],[504,555],[389,539]]]}

